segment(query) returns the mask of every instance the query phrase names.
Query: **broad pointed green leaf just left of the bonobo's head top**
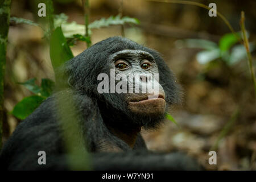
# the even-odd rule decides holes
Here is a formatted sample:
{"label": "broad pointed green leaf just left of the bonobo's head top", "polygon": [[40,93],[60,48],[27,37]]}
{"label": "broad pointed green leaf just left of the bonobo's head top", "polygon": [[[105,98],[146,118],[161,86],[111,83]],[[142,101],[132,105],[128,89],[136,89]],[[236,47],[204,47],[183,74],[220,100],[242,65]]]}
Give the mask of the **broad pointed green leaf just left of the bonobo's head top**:
{"label": "broad pointed green leaf just left of the bonobo's head top", "polygon": [[52,33],[50,39],[50,57],[55,71],[56,68],[60,67],[65,61],[74,57],[63,35],[61,27],[57,27]]}

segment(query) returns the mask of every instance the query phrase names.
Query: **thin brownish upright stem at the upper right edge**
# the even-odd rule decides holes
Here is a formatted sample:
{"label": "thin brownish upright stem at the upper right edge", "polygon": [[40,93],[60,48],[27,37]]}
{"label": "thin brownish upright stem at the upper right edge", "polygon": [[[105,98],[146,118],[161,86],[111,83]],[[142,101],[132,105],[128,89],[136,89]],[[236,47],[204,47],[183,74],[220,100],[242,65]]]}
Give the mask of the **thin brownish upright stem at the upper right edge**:
{"label": "thin brownish upright stem at the upper right edge", "polygon": [[250,68],[250,72],[251,72],[251,79],[253,80],[254,93],[255,93],[254,96],[256,97],[256,81],[255,81],[255,74],[254,74],[254,69],[253,69],[253,60],[251,59],[249,41],[248,41],[248,38],[246,36],[245,13],[243,11],[241,12],[240,26],[241,26],[242,35],[243,35],[243,46],[245,46],[245,49],[246,49],[249,68]]}

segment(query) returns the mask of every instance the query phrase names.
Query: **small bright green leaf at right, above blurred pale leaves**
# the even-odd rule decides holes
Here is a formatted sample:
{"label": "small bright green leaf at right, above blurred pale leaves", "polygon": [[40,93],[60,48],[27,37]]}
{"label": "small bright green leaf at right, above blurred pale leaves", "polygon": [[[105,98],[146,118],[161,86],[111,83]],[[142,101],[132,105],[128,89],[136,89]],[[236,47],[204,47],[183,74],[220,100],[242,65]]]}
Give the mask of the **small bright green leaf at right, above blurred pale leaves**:
{"label": "small bright green leaf at right, above blurred pale leaves", "polygon": [[[238,38],[241,38],[240,32],[237,32],[236,35],[238,36]],[[221,37],[218,44],[222,52],[228,51],[230,47],[238,42],[236,35],[234,35],[233,33],[229,33]]]}

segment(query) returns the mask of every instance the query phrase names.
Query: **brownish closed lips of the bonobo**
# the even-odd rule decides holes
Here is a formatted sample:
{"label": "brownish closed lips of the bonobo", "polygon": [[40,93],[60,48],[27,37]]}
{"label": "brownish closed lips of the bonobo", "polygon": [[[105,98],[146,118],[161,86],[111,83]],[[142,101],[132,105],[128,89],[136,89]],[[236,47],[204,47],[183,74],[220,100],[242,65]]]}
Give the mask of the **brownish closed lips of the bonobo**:
{"label": "brownish closed lips of the bonobo", "polygon": [[158,116],[165,113],[166,101],[162,98],[156,98],[139,102],[129,102],[128,109],[134,114]]}

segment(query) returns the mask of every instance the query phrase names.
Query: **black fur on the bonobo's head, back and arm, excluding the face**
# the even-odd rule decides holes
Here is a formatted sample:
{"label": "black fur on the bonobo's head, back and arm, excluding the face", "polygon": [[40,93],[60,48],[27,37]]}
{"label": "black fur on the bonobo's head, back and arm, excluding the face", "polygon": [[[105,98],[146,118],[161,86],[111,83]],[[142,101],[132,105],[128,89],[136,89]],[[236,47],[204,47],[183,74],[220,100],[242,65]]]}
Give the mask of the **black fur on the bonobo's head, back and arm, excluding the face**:
{"label": "black fur on the bonobo's head, back and arm, excluding the face", "polygon": [[[174,75],[158,52],[121,37],[103,40],[60,68],[60,73],[68,76],[68,81],[62,81],[68,82],[69,88],[60,89],[59,92],[47,98],[38,109],[16,127],[2,150],[1,168],[70,169],[67,164],[67,156],[70,154],[63,142],[63,130],[65,130],[67,132],[64,133],[68,133],[71,138],[72,135],[78,136],[80,141],[77,142],[82,143],[81,146],[86,148],[85,151],[98,151],[97,147],[102,141],[107,141],[124,151],[113,154],[96,152],[90,155],[90,164],[93,169],[198,169],[196,163],[184,155],[148,152],[141,134],[131,150],[123,140],[115,137],[105,126],[106,123],[114,123],[118,127],[123,127],[122,129],[134,125],[146,125],[146,128],[151,128],[163,120],[163,116],[149,118],[130,113],[122,94],[98,94],[97,75],[109,74],[109,55],[123,49],[139,49],[154,56],[159,68],[159,83],[166,93],[167,104],[177,104],[180,101],[179,85],[176,84]],[[72,101],[75,109],[68,114],[65,113],[67,111],[58,109],[60,108],[57,105],[58,97],[61,99],[61,104],[70,105]],[[68,124],[77,122],[80,132],[72,133],[68,125],[61,126],[59,122],[61,115],[65,115],[64,120],[68,121]],[[75,121],[74,118],[76,118]],[[118,123],[119,121],[122,123]],[[104,149],[105,146],[101,147]],[[47,165],[38,165],[37,154],[41,150],[46,151]],[[79,166],[83,164],[77,162],[77,168]]]}

